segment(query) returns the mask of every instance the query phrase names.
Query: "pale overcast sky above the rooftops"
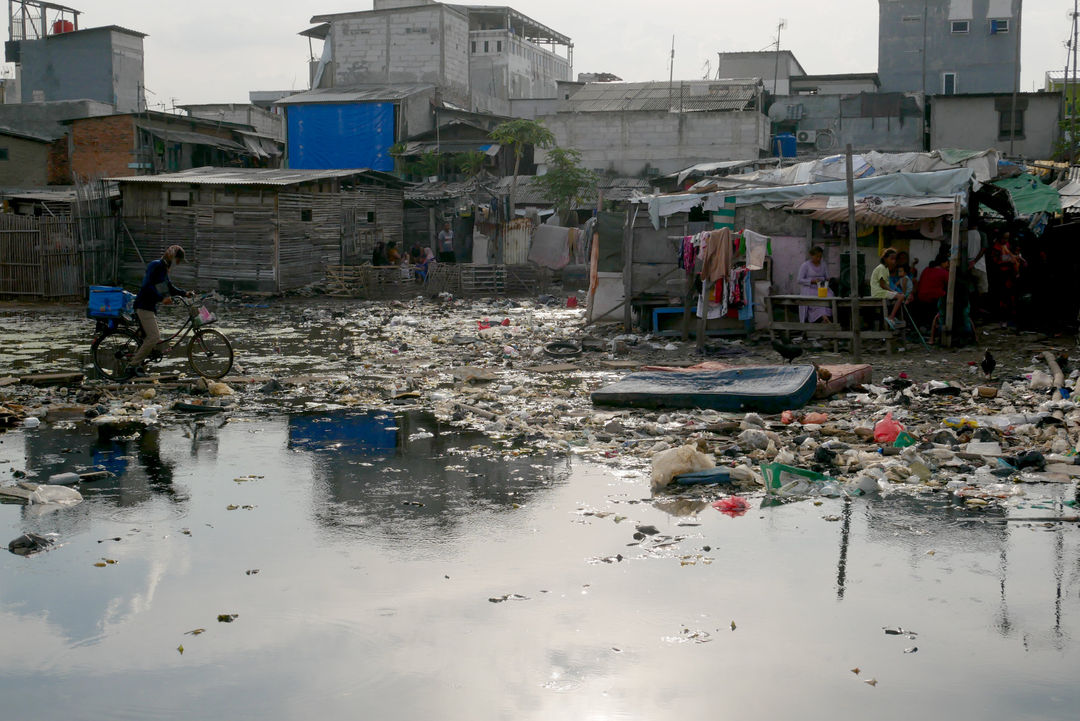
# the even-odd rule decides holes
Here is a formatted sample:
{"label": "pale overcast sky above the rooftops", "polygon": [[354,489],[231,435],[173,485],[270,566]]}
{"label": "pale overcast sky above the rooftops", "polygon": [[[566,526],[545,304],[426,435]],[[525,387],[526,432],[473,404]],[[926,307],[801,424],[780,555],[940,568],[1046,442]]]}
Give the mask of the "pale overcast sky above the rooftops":
{"label": "pale overcast sky above the rooftops", "polygon": [[[312,15],[370,10],[372,0],[67,0],[83,27],[121,25],[146,32],[146,84],[152,106],[245,103],[252,90],[305,90],[308,41],[297,32]],[[481,4],[481,3],[477,3]],[[483,3],[496,4],[496,3]],[[675,78],[696,79],[719,51],[757,51],[775,42],[807,72],[877,70],[875,0],[516,0],[526,15],[573,39],[575,73],[624,80],[667,78],[675,36]],[[1065,68],[1072,0],[1027,0],[1022,90],[1042,87],[1047,70]]]}

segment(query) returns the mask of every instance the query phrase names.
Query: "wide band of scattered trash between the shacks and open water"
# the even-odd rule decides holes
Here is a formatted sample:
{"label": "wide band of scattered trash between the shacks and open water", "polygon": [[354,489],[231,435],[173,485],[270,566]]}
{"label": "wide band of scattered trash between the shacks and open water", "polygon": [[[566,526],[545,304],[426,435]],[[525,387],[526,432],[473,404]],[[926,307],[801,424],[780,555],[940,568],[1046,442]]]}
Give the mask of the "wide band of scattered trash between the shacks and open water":
{"label": "wide band of scattered trash between the shacks and open water", "polygon": [[[87,423],[127,437],[210,414],[427,409],[515,453],[556,450],[648,477],[657,494],[948,492],[987,508],[1021,503],[1028,484],[1080,477],[1080,407],[1070,399],[1080,372],[1066,377],[1057,360],[1067,358],[1049,353],[997,383],[977,377],[993,375],[986,359],[954,373],[960,380],[833,379],[842,382],[831,399],[761,416],[594,407],[590,393],[629,371],[702,356],[692,343],[586,326],[583,309],[551,299],[291,302],[232,309],[222,326],[238,349],[225,382],[167,372],[120,385],[82,372],[0,379],[0,427]],[[765,341],[710,344],[705,356],[779,360]]]}

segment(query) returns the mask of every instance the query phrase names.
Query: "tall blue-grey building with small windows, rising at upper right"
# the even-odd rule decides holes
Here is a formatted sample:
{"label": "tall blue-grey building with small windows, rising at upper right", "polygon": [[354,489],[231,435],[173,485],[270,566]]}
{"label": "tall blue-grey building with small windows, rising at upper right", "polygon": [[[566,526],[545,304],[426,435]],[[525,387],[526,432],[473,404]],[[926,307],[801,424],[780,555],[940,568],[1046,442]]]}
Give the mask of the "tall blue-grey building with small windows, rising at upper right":
{"label": "tall blue-grey building with small windows, rising at upper right", "polygon": [[1020,79],[1021,0],[878,0],[885,92],[1009,93]]}

